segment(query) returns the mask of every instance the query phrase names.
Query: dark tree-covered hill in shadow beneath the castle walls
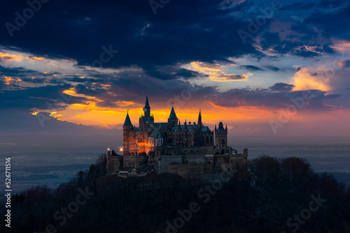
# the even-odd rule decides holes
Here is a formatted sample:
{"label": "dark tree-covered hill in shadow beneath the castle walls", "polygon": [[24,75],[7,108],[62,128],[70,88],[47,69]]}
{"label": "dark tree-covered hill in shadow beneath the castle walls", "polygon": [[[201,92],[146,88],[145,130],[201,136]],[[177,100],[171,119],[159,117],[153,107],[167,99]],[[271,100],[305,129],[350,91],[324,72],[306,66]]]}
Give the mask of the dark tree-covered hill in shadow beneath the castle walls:
{"label": "dark tree-covered hill in shadow beneath the castle walls", "polygon": [[100,156],[54,192],[38,186],[15,195],[11,232],[350,232],[350,191],[301,158],[260,156],[248,172],[216,183],[104,176],[105,163]]}

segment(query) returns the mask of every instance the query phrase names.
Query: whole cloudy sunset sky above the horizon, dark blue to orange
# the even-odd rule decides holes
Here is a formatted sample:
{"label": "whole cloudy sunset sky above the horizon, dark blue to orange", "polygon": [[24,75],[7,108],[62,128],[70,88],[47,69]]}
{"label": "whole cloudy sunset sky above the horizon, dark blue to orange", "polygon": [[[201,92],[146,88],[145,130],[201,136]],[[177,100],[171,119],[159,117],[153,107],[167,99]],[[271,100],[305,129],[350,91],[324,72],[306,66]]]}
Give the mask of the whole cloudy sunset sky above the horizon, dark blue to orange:
{"label": "whole cloudy sunset sky above the horizon, dark blue to orange", "polygon": [[148,96],[156,122],[347,136],[349,70],[350,1],[6,1],[0,135],[120,133]]}

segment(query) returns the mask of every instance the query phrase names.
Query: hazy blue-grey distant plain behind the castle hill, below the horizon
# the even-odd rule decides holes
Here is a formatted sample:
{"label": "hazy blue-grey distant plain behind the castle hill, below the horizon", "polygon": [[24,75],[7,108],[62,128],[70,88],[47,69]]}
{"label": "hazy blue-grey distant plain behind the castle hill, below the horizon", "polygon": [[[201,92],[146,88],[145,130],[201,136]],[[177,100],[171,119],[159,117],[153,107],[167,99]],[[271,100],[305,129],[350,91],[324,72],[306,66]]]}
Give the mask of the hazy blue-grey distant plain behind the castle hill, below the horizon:
{"label": "hazy blue-grey distant plain behind the castle hill, below the horizon", "polygon": [[[307,142],[300,137],[229,137],[229,140],[239,151],[248,148],[249,160],[263,154],[277,158],[305,158],[314,172],[331,172],[350,186],[349,137],[307,137]],[[55,189],[79,170],[87,170],[107,148],[118,151],[122,144],[120,135],[3,136],[0,142],[1,161],[8,156],[13,160],[15,193],[38,184]]]}

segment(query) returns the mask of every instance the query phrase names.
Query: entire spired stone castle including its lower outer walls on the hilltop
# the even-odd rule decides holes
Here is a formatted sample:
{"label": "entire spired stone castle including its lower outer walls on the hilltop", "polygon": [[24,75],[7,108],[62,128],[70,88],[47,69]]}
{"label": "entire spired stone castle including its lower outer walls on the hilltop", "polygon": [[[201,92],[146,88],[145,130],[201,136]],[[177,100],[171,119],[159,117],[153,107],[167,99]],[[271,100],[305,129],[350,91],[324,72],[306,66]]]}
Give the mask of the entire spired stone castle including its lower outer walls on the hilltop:
{"label": "entire spired stone castle including its lower outer walls on the hilltop", "polygon": [[223,122],[210,130],[203,125],[200,110],[197,123],[185,120],[181,125],[173,106],[167,122],[155,123],[148,96],[143,110],[139,127],[132,125],[127,112],[123,124],[123,156],[108,151],[109,174],[140,175],[142,167],[148,166],[158,174],[170,172],[184,178],[205,179],[218,172],[246,167],[248,149],[237,153],[228,146],[228,127],[224,128]]}

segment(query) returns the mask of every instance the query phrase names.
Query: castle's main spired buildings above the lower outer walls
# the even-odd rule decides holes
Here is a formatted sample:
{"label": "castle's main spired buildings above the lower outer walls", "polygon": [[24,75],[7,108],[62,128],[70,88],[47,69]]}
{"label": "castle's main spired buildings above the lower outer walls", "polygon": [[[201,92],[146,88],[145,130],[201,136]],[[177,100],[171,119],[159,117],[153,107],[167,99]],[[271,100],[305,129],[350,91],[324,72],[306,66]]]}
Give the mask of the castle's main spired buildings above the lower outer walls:
{"label": "castle's main spired buildings above the lower outer walls", "polygon": [[[218,129],[215,127],[216,148],[225,153],[228,151],[228,127],[223,128],[223,123],[219,123]],[[144,116],[139,118],[139,127],[132,125],[129,113],[123,125],[123,155],[137,156],[141,153],[152,153],[158,146],[170,146],[182,148],[185,154],[213,153],[214,131],[202,123],[201,111],[198,114],[197,124],[193,122],[181,125],[176,117],[174,107],[170,111],[168,122],[155,123],[151,115],[151,107],[146,96]],[[159,149],[159,148],[158,148]],[[172,153],[167,150],[165,153]]]}

